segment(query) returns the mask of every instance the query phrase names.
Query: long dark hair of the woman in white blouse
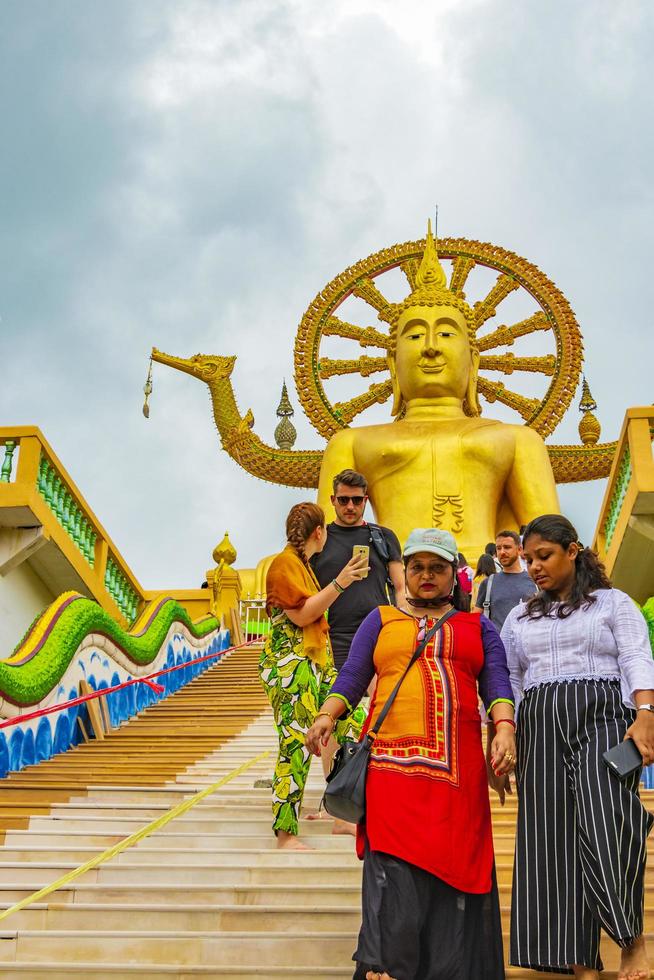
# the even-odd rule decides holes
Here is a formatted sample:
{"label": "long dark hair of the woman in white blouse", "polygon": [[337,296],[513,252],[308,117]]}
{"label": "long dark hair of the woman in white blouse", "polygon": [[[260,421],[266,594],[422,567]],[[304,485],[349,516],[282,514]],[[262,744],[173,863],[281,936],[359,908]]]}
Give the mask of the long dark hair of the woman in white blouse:
{"label": "long dark hair of the woman in white blouse", "polygon": [[[558,603],[556,597],[543,590],[537,592],[527,600],[527,610],[525,616],[530,619],[539,619],[541,616],[549,616],[552,607],[557,604],[556,616],[558,619],[566,619],[575,609],[588,609],[596,602],[596,597],[592,593],[596,589],[610,589],[611,582],[607,577],[604,565],[597,557],[597,553],[590,548],[584,548],[579,541],[579,536],[567,519],[561,514],[544,514],[530,521],[525,528],[522,536],[523,547],[527,539],[533,534],[538,534],[543,541],[551,541],[552,544],[560,545],[567,551],[571,544],[577,543],[579,551],[575,558],[575,578],[572,583],[570,596],[565,602]],[[522,618],[522,617],[521,617]]]}

